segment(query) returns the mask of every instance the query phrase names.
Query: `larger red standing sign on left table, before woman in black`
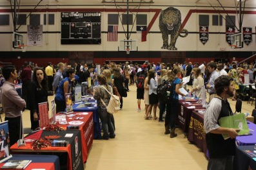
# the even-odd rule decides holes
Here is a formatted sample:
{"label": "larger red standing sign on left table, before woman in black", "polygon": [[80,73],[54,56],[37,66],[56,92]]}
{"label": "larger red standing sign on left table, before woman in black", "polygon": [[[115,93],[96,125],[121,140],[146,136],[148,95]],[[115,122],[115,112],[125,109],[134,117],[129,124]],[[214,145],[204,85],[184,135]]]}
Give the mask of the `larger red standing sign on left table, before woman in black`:
{"label": "larger red standing sign on left table, before woman in black", "polygon": [[38,103],[39,110],[39,126],[43,128],[44,126],[50,124],[48,116],[48,102]]}

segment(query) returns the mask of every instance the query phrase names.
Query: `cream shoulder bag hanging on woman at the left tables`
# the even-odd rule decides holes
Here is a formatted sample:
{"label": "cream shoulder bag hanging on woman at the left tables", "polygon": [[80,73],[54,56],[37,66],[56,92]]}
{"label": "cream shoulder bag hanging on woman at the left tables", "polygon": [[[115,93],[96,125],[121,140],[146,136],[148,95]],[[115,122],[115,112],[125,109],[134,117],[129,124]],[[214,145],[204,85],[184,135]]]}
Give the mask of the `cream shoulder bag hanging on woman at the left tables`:
{"label": "cream shoulder bag hanging on woman at the left tables", "polygon": [[106,106],[106,103],[104,103],[103,99],[101,98],[101,102],[103,103],[103,105],[106,107],[106,111],[109,114],[115,114],[119,111],[120,109],[120,98],[118,96],[115,96],[114,94],[112,94],[112,87],[111,87],[111,93],[103,86],[101,86],[103,89],[106,90],[106,92],[108,92],[108,94],[110,94],[110,102],[108,103],[108,106]]}

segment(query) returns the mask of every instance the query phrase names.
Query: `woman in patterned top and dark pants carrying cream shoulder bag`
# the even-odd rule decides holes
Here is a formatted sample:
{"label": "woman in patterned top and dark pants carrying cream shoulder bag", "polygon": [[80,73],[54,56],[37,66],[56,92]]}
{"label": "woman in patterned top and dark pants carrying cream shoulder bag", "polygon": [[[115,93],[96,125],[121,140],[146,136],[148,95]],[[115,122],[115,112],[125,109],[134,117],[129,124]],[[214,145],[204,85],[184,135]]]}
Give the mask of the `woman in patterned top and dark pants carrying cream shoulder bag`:
{"label": "woman in patterned top and dark pants carrying cream shoulder bag", "polygon": [[[97,87],[92,94],[94,95],[94,99],[97,100],[99,118],[101,119],[102,129],[103,129],[102,139],[104,140],[108,140],[110,138],[113,139],[115,138],[115,132],[114,132],[113,124],[111,121],[112,115],[108,113],[106,110],[106,106],[108,106],[108,103],[110,102],[110,97],[111,97],[110,94],[106,92],[106,90],[111,92],[112,88],[110,85],[106,84],[106,77],[102,74],[97,76],[97,81],[99,82],[100,87]],[[101,101],[101,99],[104,101],[106,106]]]}

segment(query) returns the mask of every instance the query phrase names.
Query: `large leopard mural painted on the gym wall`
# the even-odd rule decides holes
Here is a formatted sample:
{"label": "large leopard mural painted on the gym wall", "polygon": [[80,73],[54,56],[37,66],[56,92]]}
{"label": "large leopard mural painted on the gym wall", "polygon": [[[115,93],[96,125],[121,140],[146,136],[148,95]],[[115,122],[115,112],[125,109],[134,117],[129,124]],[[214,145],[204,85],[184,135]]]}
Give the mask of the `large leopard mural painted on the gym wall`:
{"label": "large leopard mural painted on the gym wall", "polygon": [[[163,45],[161,49],[177,50],[175,47],[176,40],[178,37],[186,37],[188,30],[181,29],[181,12],[176,8],[169,7],[165,10],[161,10],[159,17],[159,28],[162,33]],[[180,33],[185,33],[181,35]],[[170,35],[170,45],[168,44],[168,38]]]}

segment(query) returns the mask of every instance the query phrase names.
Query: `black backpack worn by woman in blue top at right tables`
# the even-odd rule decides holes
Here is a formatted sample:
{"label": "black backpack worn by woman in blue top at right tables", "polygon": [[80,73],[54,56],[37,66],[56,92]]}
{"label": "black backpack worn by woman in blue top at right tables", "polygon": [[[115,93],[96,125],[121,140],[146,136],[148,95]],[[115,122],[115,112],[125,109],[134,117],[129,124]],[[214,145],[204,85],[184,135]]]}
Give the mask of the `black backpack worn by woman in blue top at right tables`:
{"label": "black backpack worn by woman in blue top at right tables", "polygon": [[[162,103],[171,103],[173,93],[172,86],[173,82],[168,80],[163,81],[160,85],[157,86],[157,96]],[[167,91],[170,92],[169,95],[167,95]]]}

